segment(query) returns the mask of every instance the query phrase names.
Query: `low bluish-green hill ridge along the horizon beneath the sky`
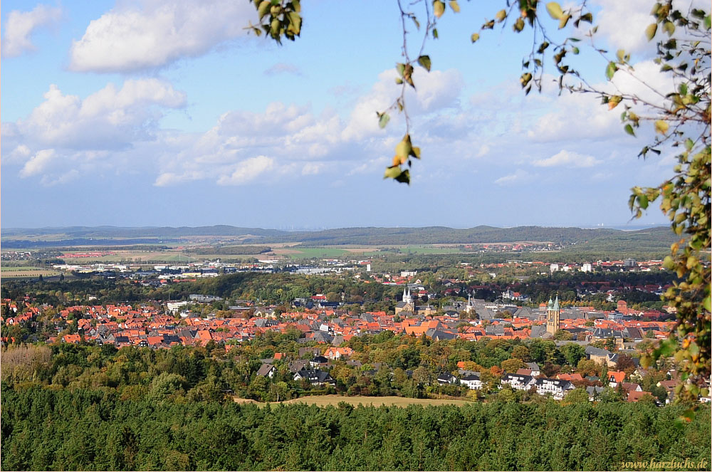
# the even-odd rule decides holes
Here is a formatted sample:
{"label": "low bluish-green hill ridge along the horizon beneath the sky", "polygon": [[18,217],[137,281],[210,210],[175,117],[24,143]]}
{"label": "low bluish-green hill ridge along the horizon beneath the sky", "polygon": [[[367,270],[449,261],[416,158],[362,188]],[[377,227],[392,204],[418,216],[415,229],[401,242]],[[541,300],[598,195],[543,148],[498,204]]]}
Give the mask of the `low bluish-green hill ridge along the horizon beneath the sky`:
{"label": "low bluish-green hill ridge along the horizon beneath the sky", "polygon": [[[584,243],[590,241],[640,241],[666,243],[676,236],[668,226],[658,226],[637,231],[619,229],[581,229],[575,227],[516,226],[497,228],[475,226],[453,229],[446,226],[417,228],[354,227],[322,231],[280,231],[276,229],[243,228],[229,225],[170,226],[127,228],[117,226],[69,226],[40,229],[4,229],[2,243],[6,247],[27,242],[27,238],[52,236],[58,245],[64,241],[105,238],[181,238],[184,236],[247,236],[245,243],[304,243],[332,246],[345,244],[452,244],[452,243],[511,243],[515,241],[550,241],[553,243]],[[45,241],[42,246],[46,246]],[[92,241],[88,244],[93,243]],[[122,241],[123,244],[127,241]],[[23,246],[26,247],[26,246]]]}

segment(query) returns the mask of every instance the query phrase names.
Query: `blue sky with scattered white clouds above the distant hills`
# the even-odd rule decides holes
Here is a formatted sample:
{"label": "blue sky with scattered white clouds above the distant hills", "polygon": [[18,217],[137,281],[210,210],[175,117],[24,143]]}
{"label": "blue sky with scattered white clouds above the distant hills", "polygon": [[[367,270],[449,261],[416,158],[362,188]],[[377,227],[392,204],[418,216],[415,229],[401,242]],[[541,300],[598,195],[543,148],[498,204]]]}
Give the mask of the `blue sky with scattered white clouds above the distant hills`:
{"label": "blue sky with scattered white clouds above the distant hills", "polygon": [[[652,3],[589,2],[596,44],[624,48],[665,88],[644,38]],[[558,96],[553,76],[525,96],[530,34],[497,27],[471,44],[505,2],[461,4],[439,20],[424,47],[431,71],[416,68],[406,95],[422,150],[407,186],[382,178],[404,118],[392,112],[382,130],[376,115],[400,93],[395,0],[303,1],[301,36],[281,46],[248,34],[247,0],[6,0],[0,224],[665,224],[656,206],[630,221],[627,201],[634,185],[671,177],[674,153],[638,158],[651,130],[625,134],[621,110]],[[422,35],[409,31],[416,51]],[[581,50],[574,64],[590,83],[646,93],[621,72],[607,83],[606,61]]]}

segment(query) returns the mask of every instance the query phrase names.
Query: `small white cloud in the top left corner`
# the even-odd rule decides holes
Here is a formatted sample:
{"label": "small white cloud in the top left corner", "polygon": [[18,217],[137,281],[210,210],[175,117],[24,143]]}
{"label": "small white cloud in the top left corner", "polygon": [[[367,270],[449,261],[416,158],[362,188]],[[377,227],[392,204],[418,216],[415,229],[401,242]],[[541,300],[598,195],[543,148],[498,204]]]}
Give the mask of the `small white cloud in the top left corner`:
{"label": "small white cloud in the top left corner", "polygon": [[38,5],[32,11],[11,11],[5,23],[3,56],[15,57],[27,51],[34,51],[36,48],[30,39],[33,31],[58,22],[61,16],[61,8],[46,5]]}

